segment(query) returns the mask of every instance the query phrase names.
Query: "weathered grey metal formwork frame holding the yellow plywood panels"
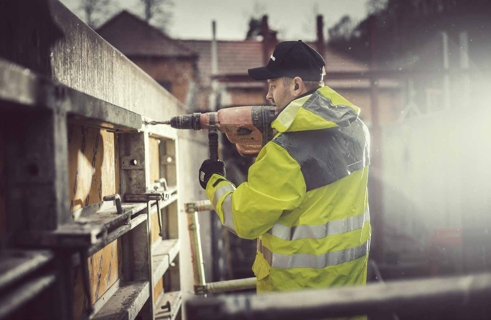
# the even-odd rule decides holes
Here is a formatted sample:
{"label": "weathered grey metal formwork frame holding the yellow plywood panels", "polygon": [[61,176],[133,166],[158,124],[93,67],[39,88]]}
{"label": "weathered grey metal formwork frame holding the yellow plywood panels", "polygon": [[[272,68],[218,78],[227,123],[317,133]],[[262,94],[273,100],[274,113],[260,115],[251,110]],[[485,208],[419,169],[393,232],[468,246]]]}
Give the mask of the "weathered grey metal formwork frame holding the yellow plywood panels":
{"label": "weathered grey metal formwork frame holding the yellow plywood panels", "polygon": [[[150,182],[148,157],[151,134],[173,145],[172,156],[166,158],[177,161],[175,131],[147,126],[140,114],[1,59],[0,103],[3,114],[12,119],[7,125],[12,134],[7,135],[5,166],[8,226],[15,230],[4,241],[12,249],[0,251],[0,288],[8,293],[0,296],[0,319],[46,290],[49,294],[43,294],[44,299],[56,303],[49,316],[73,319],[74,293],[68,284],[72,283],[70,270],[79,264],[89,307],[84,317],[135,319],[140,314],[143,319],[154,319],[160,312],[159,316],[175,318],[182,300],[180,291],[161,293],[154,299],[154,287],[174,265],[180,241],[177,231],[167,230],[165,234],[174,239],[166,239],[161,231],[161,240],[152,243],[150,215],[156,210],[161,215],[178,201],[177,172],[174,167],[169,179],[173,186],[167,186],[165,179]],[[72,213],[66,187],[68,121],[118,133],[121,138],[121,196],[105,196],[107,201]],[[177,219],[177,212],[173,214]],[[124,243],[124,276],[97,301],[91,301],[88,270],[82,262],[119,238]],[[49,264],[48,271],[39,272]],[[178,272],[173,277],[178,278]],[[24,281],[27,278],[33,280]],[[164,314],[163,306],[167,309]]]}

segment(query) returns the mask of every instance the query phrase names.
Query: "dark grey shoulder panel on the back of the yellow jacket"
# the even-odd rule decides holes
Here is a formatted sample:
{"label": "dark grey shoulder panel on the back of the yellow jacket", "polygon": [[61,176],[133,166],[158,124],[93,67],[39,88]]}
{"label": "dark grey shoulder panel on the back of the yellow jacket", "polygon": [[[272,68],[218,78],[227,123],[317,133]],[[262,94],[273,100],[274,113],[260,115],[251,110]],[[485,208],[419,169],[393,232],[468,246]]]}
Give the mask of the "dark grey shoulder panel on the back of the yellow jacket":
{"label": "dark grey shoulder panel on the back of the yellow jacket", "polygon": [[359,119],[348,127],[282,133],[273,142],[300,164],[307,191],[327,186],[369,164],[370,136]]}

